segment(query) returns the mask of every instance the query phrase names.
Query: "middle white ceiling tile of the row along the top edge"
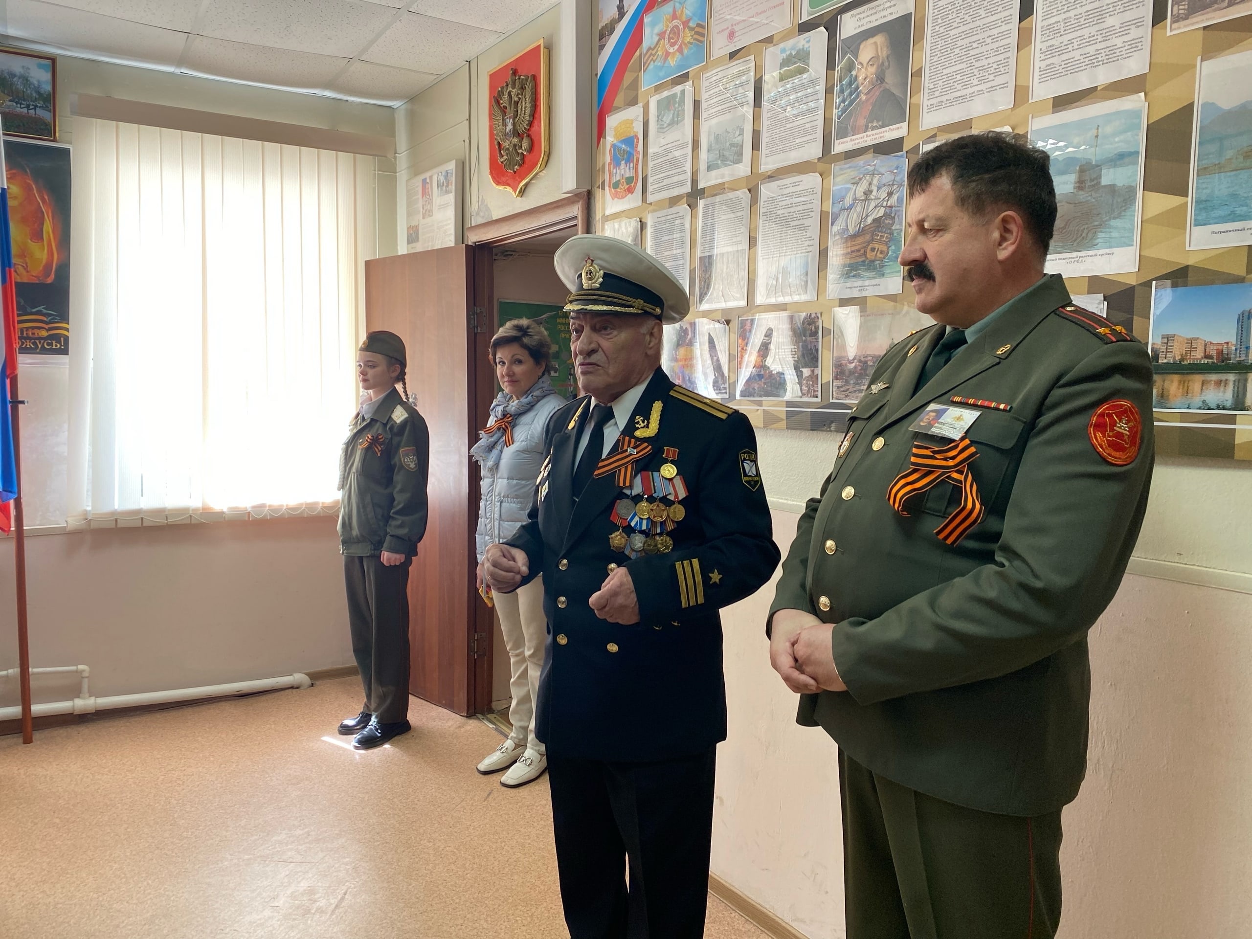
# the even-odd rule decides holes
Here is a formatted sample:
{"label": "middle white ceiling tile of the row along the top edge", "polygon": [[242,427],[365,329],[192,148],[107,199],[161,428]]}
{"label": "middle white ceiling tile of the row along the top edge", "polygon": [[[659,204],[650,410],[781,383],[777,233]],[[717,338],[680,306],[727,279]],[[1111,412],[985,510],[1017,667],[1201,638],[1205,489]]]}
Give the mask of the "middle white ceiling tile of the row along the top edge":
{"label": "middle white ceiling tile of the row along the top edge", "polygon": [[364,0],[210,0],[200,34],[351,59],[394,16]]}

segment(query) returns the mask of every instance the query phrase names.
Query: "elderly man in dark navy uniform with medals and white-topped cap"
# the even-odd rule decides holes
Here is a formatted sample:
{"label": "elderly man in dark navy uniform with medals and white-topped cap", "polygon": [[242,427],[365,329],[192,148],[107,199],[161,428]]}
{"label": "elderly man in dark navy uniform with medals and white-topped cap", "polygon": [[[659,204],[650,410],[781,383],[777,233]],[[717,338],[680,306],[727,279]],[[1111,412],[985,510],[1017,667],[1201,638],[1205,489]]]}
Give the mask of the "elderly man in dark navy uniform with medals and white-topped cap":
{"label": "elderly man in dark navy uniform with medals and white-topped cap", "polygon": [[651,255],[577,235],[556,268],[587,394],[552,416],[530,520],[483,568],[501,592],[543,576],[536,721],[571,936],[696,939],[726,737],[717,611],[779,562],[756,437],[661,371],[689,300]]}

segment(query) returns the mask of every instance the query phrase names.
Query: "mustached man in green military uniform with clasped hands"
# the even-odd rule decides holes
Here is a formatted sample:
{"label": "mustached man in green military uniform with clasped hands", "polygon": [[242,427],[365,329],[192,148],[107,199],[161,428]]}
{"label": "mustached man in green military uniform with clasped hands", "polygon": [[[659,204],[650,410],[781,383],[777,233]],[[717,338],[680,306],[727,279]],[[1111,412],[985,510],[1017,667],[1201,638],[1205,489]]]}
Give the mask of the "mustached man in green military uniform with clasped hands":
{"label": "mustached man in green military uniform with clasped hands", "polygon": [[938,326],[879,362],[782,566],[770,655],[839,744],[849,939],[1057,930],[1087,632],[1153,442],[1147,349],[1044,275],[1055,214],[1020,139],[913,167],[900,263]]}

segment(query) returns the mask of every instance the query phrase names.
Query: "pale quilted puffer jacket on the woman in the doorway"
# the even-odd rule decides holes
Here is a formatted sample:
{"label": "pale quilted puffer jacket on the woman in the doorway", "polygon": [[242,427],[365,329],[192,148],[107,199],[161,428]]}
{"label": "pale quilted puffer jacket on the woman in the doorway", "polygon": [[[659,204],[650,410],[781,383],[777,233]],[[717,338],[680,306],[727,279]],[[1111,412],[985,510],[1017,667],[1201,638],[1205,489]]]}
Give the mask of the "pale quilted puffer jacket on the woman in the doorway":
{"label": "pale quilted puffer jacket on the woman in the doorway", "polygon": [[535,497],[535,480],[543,463],[543,431],[548,418],[566,404],[553,392],[513,422],[513,446],[505,447],[496,466],[482,466],[482,502],[478,503],[478,560],[487,546],[507,541],[526,521]]}

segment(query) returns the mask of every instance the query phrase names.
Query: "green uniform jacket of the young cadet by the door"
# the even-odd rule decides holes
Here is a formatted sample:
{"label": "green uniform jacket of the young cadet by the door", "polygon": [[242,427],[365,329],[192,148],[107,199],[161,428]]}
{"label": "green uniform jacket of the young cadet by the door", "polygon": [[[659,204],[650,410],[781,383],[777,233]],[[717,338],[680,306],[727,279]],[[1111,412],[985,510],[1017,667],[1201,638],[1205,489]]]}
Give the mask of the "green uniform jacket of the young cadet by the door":
{"label": "green uniform jacket of the young cadet by the door", "polygon": [[417,553],[426,533],[429,458],[426,421],[394,388],[373,417],[353,417],[339,456],[342,553]]}

